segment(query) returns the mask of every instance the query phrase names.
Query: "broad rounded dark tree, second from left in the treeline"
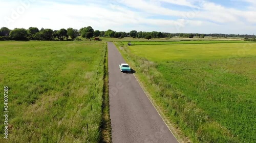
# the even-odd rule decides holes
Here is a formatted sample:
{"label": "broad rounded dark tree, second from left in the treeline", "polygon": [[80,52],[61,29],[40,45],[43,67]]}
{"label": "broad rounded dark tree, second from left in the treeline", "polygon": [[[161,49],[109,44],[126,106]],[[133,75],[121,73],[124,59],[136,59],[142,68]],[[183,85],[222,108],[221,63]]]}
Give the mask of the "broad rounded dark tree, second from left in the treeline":
{"label": "broad rounded dark tree, second from left in the treeline", "polygon": [[15,28],[10,32],[10,37],[12,40],[24,40],[27,41],[28,32],[25,28]]}

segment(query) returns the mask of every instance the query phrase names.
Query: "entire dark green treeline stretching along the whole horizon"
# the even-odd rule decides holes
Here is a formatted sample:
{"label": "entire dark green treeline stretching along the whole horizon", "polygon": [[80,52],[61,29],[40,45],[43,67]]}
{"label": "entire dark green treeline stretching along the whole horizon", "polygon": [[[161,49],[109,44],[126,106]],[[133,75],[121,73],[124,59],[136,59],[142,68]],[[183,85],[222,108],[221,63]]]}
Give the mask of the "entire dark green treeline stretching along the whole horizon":
{"label": "entire dark green treeline stretching along the whole horizon", "polygon": [[[161,33],[161,32],[142,32],[142,31],[131,31],[126,32],[115,32],[113,30],[108,31],[99,31],[94,29],[91,26],[82,27],[80,30],[74,28],[61,28],[60,30],[51,30],[50,28],[41,28],[38,30],[37,27],[29,27],[27,30],[25,28],[14,28],[10,30],[7,27],[2,27],[0,29],[0,41],[1,40],[81,40],[77,38],[78,36],[82,38],[90,39],[92,37],[112,37],[112,38],[124,38],[124,37],[133,37],[133,38],[172,38],[172,37],[182,37],[182,38],[204,38],[205,36],[211,37],[240,37],[248,38],[245,40],[251,40],[250,38],[255,37],[254,35],[234,35],[234,34],[185,34],[185,33]],[[253,40],[253,39],[252,39]]]}

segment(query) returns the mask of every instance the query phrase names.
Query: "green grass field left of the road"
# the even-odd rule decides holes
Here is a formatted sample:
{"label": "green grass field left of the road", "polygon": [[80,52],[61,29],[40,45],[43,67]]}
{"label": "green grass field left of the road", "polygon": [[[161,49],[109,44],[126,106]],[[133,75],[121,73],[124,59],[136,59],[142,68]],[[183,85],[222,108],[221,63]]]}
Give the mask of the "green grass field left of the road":
{"label": "green grass field left of the road", "polygon": [[[105,51],[99,41],[0,42],[0,94],[9,89],[8,141],[98,142]],[[0,142],[6,142],[3,123]]]}

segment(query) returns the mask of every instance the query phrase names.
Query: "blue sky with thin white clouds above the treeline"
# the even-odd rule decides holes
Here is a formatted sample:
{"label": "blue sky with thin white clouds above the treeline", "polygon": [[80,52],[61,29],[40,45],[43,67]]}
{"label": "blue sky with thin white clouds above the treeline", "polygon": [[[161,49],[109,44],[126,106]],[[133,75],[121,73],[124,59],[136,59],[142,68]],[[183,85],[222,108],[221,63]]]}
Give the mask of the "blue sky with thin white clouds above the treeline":
{"label": "blue sky with thin white clouds above the treeline", "polygon": [[0,27],[256,34],[256,0],[0,0]]}

